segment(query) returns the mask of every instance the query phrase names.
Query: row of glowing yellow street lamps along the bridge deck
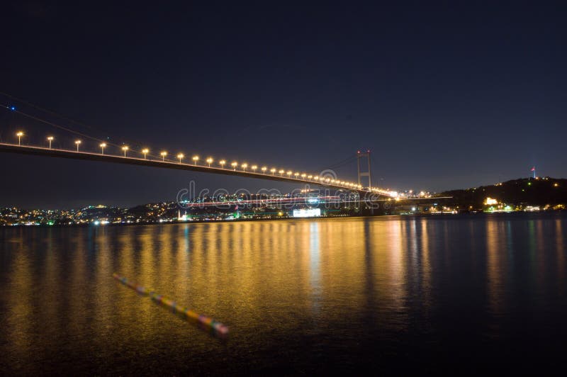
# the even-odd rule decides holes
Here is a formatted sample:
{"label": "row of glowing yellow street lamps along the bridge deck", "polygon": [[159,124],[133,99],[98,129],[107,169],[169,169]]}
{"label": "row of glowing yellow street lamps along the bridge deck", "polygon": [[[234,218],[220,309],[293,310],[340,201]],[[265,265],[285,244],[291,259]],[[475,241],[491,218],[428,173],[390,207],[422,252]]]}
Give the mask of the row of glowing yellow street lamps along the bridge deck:
{"label": "row of glowing yellow street lamps along the bridge deck", "polygon": [[[16,133],[16,136],[18,137],[18,146],[21,146],[21,138],[24,136],[24,133],[19,131],[18,133]],[[51,149],[51,143],[52,141],[55,140],[55,137],[53,136],[48,136],[47,137],[47,142],[49,142],[49,149]],[[77,145],[77,152],[79,152],[79,146],[82,144],[81,140],[75,140],[75,145]],[[101,154],[104,154],[104,148],[107,147],[106,142],[102,142],[99,147],[101,148]],[[122,150],[124,152],[124,157],[126,157],[126,152],[128,152],[129,148],[127,145],[123,145],[122,146]],[[150,153],[150,150],[147,148],[144,148],[142,151],[142,154],[144,155],[144,159],[147,159],[147,154]],[[159,153],[159,155],[162,157],[162,161],[165,162],[165,157],[167,157],[167,151],[162,151]],[[183,153],[179,153],[177,154],[177,159],[179,159],[179,164],[181,164],[181,161],[185,158],[185,155]],[[199,160],[198,156],[193,156],[193,164],[197,165],[197,162]],[[210,164],[212,164],[215,160],[213,159],[213,157],[207,157],[207,159],[205,160],[208,164],[208,167],[210,167]],[[218,164],[220,165],[221,169],[225,169],[225,164],[226,164],[226,160],[225,159],[221,159]],[[238,162],[233,161],[230,163],[230,166],[232,167],[232,169],[234,171],[236,171],[237,167],[238,167]],[[242,171],[246,171],[246,169],[248,168],[248,164],[246,162],[240,164],[240,168],[242,169]],[[258,169],[258,165],[251,165],[249,167],[254,173],[256,173],[257,169]],[[266,174],[266,171],[268,171],[268,167],[261,167],[260,170],[262,171],[263,174]],[[296,179],[299,179],[301,177],[301,179],[305,180],[305,179],[309,179],[311,181],[320,181],[320,182],[324,182],[327,184],[337,184],[337,185],[342,185],[342,186],[348,186],[351,188],[362,188],[361,185],[359,184],[354,184],[352,182],[348,182],[348,181],[339,181],[338,179],[330,179],[330,178],[325,178],[323,176],[317,176],[317,175],[312,175],[312,174],[306,174],[306,173],[298,173],[293,172],[291,170],[284,170],[284,169],[276,169],[275,167],[269,169],[271,175],[276,175],[276,172],[279,173],[280,176],[283,176],[283,174],[286,174],[286,176],[288,176],[288,178],[291,178],[291,176],[293,175]]]}

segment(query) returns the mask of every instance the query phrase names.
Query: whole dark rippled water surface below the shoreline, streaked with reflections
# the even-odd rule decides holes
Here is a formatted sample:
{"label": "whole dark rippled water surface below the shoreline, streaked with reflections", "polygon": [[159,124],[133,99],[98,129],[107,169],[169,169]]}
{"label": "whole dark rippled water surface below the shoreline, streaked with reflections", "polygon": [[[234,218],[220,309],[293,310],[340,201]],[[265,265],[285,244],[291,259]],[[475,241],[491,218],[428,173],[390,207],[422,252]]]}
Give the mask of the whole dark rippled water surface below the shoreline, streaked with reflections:
{"label": "whole dark rippled water surface below the shoreline, streaked with reflections", "polygon": [[[567,333],[565,224],[529,214],[2,228],[0,371],[436,370],[471,349],[485,352],[482,368],[493,351],[534,342],[551,355]],[[115,271],[225,322],[230,338],[136,296]]]}

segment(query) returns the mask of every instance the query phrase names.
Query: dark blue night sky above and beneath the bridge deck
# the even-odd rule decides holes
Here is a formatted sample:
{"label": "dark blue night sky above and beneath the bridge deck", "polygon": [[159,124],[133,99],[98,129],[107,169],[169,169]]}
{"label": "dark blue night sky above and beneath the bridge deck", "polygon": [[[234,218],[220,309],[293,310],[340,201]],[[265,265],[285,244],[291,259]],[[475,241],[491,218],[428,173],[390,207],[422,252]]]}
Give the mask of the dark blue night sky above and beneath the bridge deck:
{"label": "dark blue night sky above and beneath the bridge deck", "polygon": [[[374,182],[398,190],[493,184],[533,165],[567,177],[564,1],[206,3],[4,4],[0,91],[152,150],[318,172],[370,149]],[[2,141],[20,128],[28,142],[50,130],[0,110]],[[174,200],[191,179],[292,188],[16,154],[0,167],[0,206]],[[337,171],[356,179],[354,163]]]}

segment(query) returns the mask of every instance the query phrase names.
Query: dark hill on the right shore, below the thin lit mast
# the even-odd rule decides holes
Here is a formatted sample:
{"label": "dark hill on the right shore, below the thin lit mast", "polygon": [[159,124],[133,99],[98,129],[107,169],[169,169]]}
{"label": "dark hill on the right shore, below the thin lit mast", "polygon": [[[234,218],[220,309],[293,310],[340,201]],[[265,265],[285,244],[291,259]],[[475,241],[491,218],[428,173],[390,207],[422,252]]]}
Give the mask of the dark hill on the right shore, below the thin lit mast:
{"label": "dark hill on the right shore, below the thin lit mast", "polygon": [[495,198],[499,203],[527,204],[530,206],[554,206],[567,203],[567,179],[522,178],[506,181],[491,186],[451,190],[439,193],[440,196],[452,196],[455,206],[481,208],[487,197]]}

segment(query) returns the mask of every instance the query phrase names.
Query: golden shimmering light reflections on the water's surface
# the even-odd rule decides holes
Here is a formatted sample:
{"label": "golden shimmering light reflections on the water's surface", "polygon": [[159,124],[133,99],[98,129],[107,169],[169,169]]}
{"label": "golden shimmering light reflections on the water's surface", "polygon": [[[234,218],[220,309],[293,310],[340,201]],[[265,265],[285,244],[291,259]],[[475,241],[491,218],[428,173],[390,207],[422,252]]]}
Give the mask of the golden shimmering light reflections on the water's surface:
{"label": "golden shimmering light reflections on the water's surface", "polygon": [[[250,334],[271,336],[274,329],[291,334],[314,318],[332,328],[366,316],[365,323],[404,330],[408,303],[419,298],[427,318],[438,297],[432,275],[450,276],[456,258],[486,273],[488,307],[496,315],[506,310],[505,276],[514,266],[508,253],[515,247],[523,247],[531,262],[527,271],[558,274],[565,282],[561,220],[522,223],[524,238],[517,244],[510,222],[474,221],[461,225],[466,237],[459,240],[468,242],[461,254],[451,251],[456,223],[425,218],[6,230],[0,268],[10,357],[26,363],[37,342],[69,339],[100,349],[108,339],[146,347],[164,338],[217,347],[208,345],[207,334],[117,284],[115,271],[218,318],[236,330],[234,344]],[[554,252],[541,255],[551,246]],[[541,288],[537,276],[522,278]]]}

